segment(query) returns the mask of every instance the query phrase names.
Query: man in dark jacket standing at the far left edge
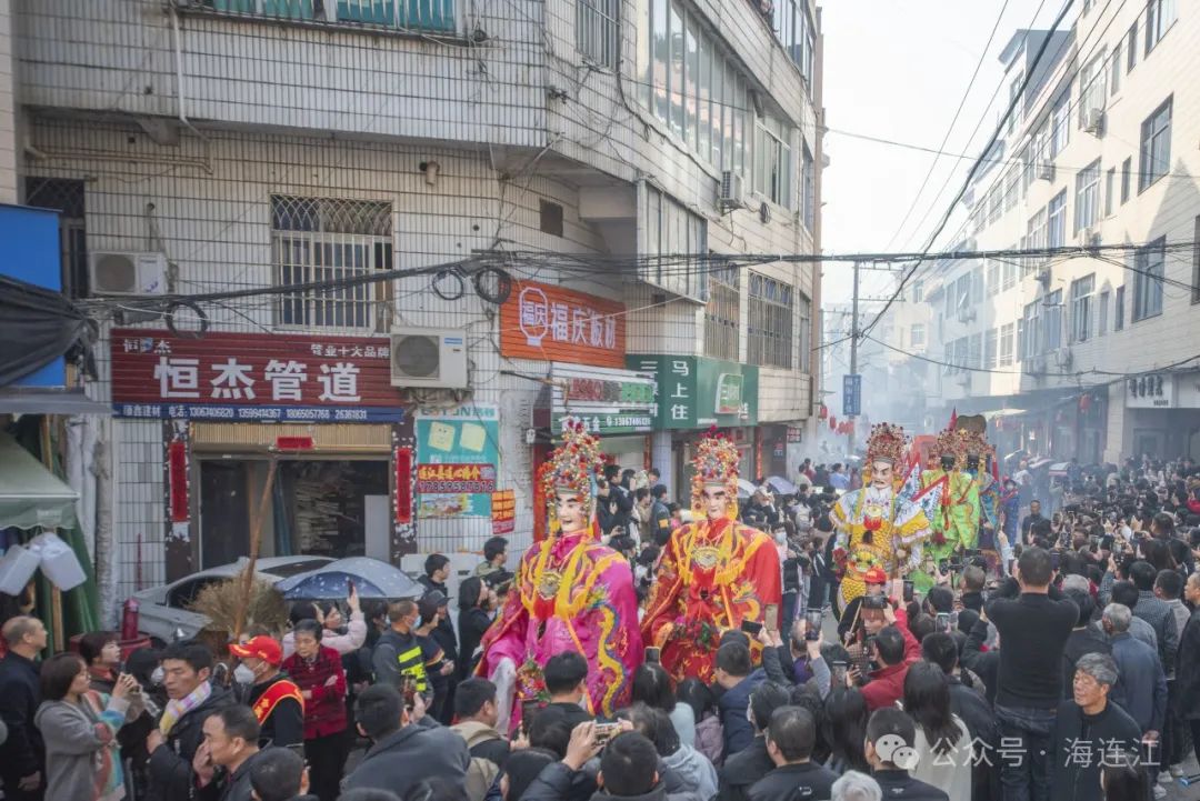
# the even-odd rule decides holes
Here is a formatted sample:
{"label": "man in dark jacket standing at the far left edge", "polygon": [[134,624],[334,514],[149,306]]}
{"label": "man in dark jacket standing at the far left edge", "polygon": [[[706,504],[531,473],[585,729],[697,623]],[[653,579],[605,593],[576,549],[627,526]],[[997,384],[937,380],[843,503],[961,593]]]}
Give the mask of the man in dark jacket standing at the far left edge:
{"label": "man in dark jacket standing at the far left edge", "polygon": [[37,618],[18,615],[4,625],[8,652],[0,660],[0,719],[8,739],[0,746],[4,796],[14,801],[42,797],[46,781],[46,745],[34,725],[42,703],[38,667],[34,660],[46,648],[46,626]]}

